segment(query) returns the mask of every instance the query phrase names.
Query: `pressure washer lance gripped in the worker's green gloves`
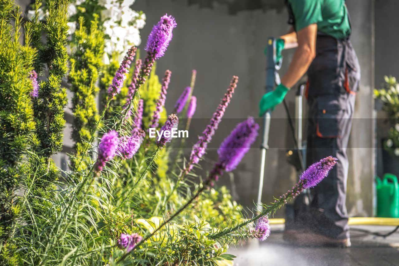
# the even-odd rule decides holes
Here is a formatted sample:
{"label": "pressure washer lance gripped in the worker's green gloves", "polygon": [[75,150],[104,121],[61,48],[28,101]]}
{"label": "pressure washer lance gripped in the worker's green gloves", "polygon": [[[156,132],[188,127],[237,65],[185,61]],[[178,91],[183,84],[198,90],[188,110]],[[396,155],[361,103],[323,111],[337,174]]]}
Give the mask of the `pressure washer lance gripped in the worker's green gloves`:
{"label": "pressure washer lance gripped in the worker's green gloves", "polygon": [[[270,37],[267,40],[267,53],[266,56],[266,93],[273,91],[275,85],[280,84],[280,77],[277,71],[281,68],[281,62],[276,62],[276,40]],[[273,51],[273,52],[272,52]],[[277,84],[277,85],[278,85]],[[266,150],[269,148],[269,130],[270,130],[271,110],[267,110],[263,115],[263,132],[262,132],[262,144],[261,144],[261,171],[259,174],[259,191],[257,201],[257,211],[262,211],[262,190],[263,190],[263,179],[265,175],[265,161],[266,161]]]}

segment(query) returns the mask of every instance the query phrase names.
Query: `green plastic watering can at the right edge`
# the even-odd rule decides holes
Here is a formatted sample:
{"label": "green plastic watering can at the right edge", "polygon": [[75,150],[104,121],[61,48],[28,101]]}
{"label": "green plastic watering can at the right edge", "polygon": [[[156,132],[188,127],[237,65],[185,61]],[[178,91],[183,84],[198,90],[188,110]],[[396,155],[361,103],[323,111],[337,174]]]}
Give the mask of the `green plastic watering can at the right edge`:
{"label": "green plastic watering can at the right edge", "polygon": [[399,184],[396,175],[386,173],[377,182],[377,217],[399,218]]}

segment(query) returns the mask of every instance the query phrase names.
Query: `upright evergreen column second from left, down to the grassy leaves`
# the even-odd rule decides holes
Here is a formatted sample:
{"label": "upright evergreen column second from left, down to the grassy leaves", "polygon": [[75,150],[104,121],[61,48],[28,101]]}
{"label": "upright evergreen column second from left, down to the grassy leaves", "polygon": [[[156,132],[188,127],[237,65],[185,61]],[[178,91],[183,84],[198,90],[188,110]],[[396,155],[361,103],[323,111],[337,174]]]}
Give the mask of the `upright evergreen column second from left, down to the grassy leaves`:
{"label": "upright evergreen column second from left, down to the grassy leaves", "polygon": [[39,97],[34,103],[36,134],[40,141],[36,152],[50,157],[62,149],[64,108],[67,104],[61,81],[67,73],[67,0],[50,0],[49,15],[44,26],[45,51],[38,60],[48,69],[47,81],[40,83]]}

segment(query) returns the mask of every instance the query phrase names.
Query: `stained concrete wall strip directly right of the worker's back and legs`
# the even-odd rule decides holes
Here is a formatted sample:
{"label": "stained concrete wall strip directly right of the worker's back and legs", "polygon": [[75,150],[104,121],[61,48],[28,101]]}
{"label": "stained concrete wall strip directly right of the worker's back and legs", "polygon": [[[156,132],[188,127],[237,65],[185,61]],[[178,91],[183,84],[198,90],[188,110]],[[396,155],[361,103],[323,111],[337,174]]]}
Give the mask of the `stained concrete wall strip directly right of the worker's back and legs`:
{"label": "stained concrete wall strip directly right of the worker's back and legs", "polygon": [[348,146],[346,205],[351,216],[373,214],[375,175],[374,133],[374,1],[346,1],[352,20],[352,43],[361,67],[360,91]]}

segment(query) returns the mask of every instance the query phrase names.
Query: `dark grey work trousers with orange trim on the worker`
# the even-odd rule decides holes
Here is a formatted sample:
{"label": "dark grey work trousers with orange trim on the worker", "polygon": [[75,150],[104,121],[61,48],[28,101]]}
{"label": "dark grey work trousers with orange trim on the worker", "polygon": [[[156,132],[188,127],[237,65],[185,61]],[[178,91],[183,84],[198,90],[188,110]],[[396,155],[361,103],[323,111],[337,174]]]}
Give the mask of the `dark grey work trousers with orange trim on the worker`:
{"label": "dark grey work trousers with orange trim on the worker", "polygon": [[327,156],[338,164],[315,188],[311,202],[295,201],[295,222],[331,238],[349,237],[346,211],[348,157],[346,147],[354,113],[360,68],[349,40],[318,35],[316,57],[308,69],[308,143],[306,164]]}

